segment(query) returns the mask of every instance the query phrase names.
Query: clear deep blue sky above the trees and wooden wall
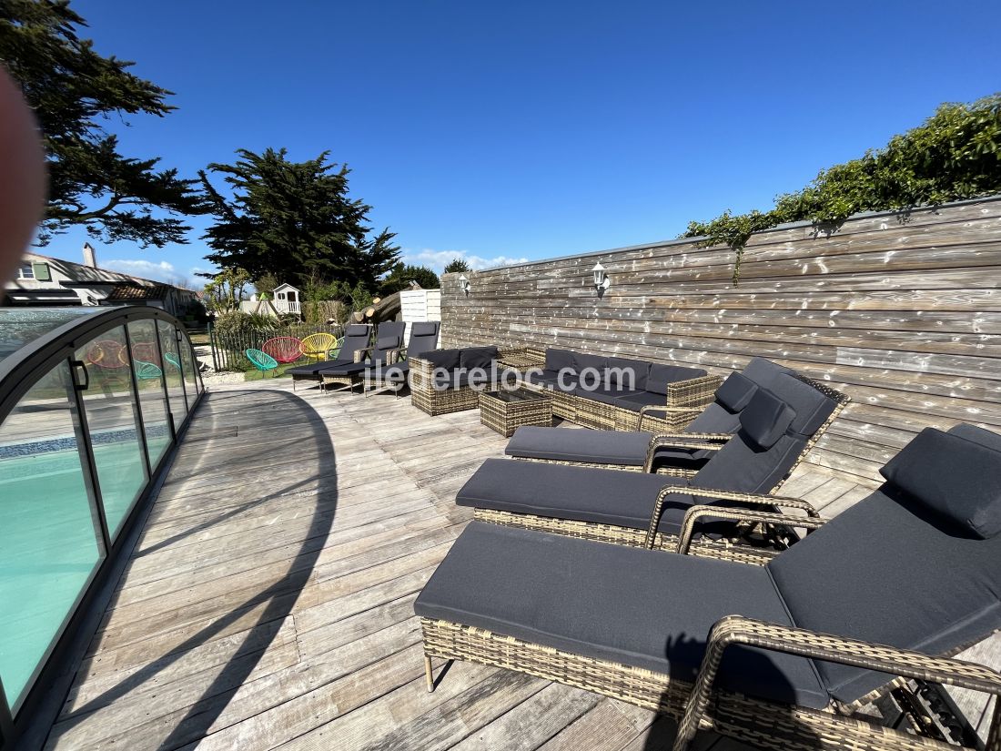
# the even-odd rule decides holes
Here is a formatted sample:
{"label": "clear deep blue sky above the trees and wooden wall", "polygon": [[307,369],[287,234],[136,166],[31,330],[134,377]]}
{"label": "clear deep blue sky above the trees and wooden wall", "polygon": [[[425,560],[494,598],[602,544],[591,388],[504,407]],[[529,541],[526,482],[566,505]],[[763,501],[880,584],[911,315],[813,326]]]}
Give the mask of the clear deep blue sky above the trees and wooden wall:
{"label": "clear deep blue sky above the trees and wooden wall", "polygon": [[[328,149],[371,223],[440,270],[667,239],[768,208],[943,101],[1001,90],[1001,3],[75,0],[104,54],[171,89],[111,123],[185,176],[236,148]],[[102,265],[206,269],[190,244]],[[78,259],[82,230],[46,252]]]}

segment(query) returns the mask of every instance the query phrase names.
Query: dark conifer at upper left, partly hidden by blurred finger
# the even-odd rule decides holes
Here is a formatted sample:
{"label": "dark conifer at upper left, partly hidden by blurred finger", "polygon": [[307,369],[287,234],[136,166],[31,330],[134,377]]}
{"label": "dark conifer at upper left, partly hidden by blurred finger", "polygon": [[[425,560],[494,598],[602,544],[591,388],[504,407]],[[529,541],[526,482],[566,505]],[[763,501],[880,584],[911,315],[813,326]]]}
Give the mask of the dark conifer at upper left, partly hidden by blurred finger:
{"label": "dark conifer at upper left, partly hidden by blurred finger", "polygon": [[77,36],[80,26],[66,0],[0,2],[0,62],[35,112],[48,162],[39,241],[83,224],[105,242],[187,242],[190,227],[178,217],[201,213],[194,181],[157,170],[158,158],[118,153],[117,136],[101,125],[129,114],[163,117],[174,109],[164,101],[171,92],[129,73],[131,62],[97,54]]}

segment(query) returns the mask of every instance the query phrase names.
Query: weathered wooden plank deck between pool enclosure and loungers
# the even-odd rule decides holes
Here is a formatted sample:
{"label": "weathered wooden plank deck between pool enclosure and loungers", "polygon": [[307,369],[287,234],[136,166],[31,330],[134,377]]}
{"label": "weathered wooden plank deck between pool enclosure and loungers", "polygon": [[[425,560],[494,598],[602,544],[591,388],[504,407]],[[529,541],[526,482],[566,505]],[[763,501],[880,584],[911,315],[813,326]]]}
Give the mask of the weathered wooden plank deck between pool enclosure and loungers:
{"label": "weathered wooden plank deck between pool enclosure and loungers", "polygon": [[[413,600],[505,444],[478,411],[408,398],[213,390],[48,747],[670,748],[651,712],[508,671],[455,663],[425,692]],[[827,514],[867,493],[822,472],[784,491]]]}

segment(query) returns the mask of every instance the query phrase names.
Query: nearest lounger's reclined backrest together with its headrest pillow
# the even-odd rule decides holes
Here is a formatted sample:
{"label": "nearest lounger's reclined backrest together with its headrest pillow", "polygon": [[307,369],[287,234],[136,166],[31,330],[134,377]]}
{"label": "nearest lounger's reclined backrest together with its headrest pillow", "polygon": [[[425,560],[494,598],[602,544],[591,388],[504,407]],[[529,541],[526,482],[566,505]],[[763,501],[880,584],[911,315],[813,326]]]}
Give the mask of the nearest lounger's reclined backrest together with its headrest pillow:
{"label": "nearest lounger's reclined backrest together with its headrest pillow", "polygon": [[[1001,436],[926,429],[868,498],[768,564],[797,626],[933,655],[1001,629]],[[817,663],[855,701],[890,677]]]}

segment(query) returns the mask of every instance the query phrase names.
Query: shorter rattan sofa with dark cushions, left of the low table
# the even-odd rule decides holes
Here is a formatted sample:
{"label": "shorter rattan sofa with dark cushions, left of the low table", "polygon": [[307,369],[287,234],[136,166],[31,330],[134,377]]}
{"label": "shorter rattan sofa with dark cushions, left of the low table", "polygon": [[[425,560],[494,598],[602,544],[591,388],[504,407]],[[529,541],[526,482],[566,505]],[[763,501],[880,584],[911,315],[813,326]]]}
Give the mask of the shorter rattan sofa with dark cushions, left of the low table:
{"label": "shorter rattan sofa with dark cushions, left of the low table", "polygon": [[528,347],[468,346],[409,357],[410,401],[428,415],[474,410],[479,394],[515,386],[540,360]]}

